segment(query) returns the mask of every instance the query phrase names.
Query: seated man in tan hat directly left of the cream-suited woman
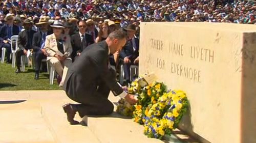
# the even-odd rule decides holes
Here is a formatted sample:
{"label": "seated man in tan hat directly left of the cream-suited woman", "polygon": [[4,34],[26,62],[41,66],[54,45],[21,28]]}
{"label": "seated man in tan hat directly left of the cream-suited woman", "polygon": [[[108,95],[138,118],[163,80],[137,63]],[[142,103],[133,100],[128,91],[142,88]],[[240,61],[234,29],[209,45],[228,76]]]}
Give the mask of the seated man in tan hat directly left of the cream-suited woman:
{"label": "seated man in tan hat directly left of the cream-suited woman", "polygon": [[46,16],[40,18],[39,22],[36,23],[39,28],[39,32],[35,33],[33,36],[33,52],[35,58],[35,78],[39,78],[39,70],[41,66],[42,59],[46,59],[47,53],[44,50],[46,36],[50,35],[51,33],[48,32],[49,29],[49,22]]}

